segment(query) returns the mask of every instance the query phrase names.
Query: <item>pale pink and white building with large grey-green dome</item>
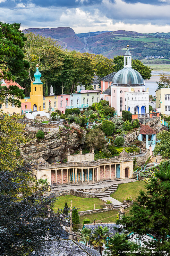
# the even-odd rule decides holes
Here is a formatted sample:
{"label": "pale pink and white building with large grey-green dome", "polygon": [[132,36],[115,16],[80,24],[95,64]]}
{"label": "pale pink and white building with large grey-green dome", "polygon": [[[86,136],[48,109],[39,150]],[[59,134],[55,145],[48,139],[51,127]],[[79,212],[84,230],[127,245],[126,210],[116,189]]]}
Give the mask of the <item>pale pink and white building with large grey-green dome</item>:
{"label": "pale pink and white building with large grey-green dome", "polygon": [[[101,81],[102,85],[102,81]],[[113,74],[111,86],[106,88],[101,98],[109,100],[110,106],[117,110],[117,115],[122,115],[122,110],[132,114],[149,113],[149,92],[140,73],[132,69],[132,54],[127,45],[124,54],[124,68]]]}

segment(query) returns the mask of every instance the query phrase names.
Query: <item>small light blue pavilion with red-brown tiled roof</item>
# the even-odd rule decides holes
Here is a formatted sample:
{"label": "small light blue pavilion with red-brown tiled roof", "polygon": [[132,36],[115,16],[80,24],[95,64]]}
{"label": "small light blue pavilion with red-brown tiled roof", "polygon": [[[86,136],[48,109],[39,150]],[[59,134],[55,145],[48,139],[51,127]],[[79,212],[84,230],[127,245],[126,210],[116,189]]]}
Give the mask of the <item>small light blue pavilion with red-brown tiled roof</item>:
{"label": "small light blue pavilion with red-brown tiled roof", "polygon": [[149,146],[152,146],[152,151],[156,145],[156,132],[149,127],[149,125],[140,124],[140,131],[138,140],[146,141],[146,148],[149,149]]}

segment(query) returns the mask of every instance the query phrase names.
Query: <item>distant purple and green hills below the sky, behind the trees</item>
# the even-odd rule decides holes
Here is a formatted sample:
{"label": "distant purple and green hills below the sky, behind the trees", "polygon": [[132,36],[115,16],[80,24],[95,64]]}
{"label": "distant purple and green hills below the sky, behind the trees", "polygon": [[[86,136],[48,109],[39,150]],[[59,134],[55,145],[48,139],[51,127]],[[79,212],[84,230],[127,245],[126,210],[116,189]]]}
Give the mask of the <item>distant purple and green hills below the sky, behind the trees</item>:
{"label": "distant purple and green hills below the sky, behind the trees", "polygon": [[[69,50],[85,52],[83,38],[85,37],[90,53],[103,54],[108,58],[123,55],[129,44],[133,58],[143,59],[145,56],[163,56],[170,59],[170,33],[142,34],[135,31],[97,31],[75,34],[72,28],[28,28],[45,37],[51,37]],[[90,35],[90,36],[89,36]]]}

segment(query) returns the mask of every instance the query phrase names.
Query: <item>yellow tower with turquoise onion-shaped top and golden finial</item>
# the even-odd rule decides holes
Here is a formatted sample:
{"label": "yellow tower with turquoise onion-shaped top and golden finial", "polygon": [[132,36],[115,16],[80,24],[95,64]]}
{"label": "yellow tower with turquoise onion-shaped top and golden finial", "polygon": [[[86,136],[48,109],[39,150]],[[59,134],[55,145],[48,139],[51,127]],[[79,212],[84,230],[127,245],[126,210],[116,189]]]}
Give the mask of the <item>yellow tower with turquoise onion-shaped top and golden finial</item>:
{"label": "yellow tower with turquoise onion-shaped top and golden finial", "polygon": [[36,66],[35,81],[31,82],[30,100],[31,109],[41,111],[43,109],[43,83],[40,79],[41,73],[38,71],[38,64]]}

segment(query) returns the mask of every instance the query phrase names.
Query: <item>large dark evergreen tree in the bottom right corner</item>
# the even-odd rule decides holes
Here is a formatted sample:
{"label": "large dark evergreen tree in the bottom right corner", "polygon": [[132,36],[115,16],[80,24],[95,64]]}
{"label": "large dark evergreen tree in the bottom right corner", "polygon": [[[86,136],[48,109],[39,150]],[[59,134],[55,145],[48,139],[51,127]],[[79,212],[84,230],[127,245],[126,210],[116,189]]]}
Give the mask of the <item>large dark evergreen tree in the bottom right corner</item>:
{"label": "large dark evergreen tree in the bottom right corner", "polygon": [[[170,251],[170,164],[160,165],[146,185],[147,191],[140,191],[130,210],[130,215],[119,221],[123,225],[119,231],[139,234],[141,241],[155,251]],[[153,239],[146,240],[149,234]],[[165,255],[160,253],[159,255]]]}

